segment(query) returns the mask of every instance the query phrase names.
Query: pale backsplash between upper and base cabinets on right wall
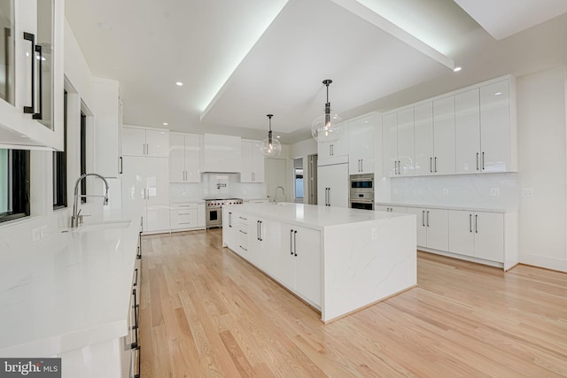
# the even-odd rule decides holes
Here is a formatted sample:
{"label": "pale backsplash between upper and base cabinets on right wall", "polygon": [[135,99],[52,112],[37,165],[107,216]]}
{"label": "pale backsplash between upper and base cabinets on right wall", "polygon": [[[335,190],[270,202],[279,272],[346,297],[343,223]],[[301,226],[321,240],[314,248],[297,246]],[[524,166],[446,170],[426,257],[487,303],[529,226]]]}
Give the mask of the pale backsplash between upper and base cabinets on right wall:
{"label": "pale backsplash between upper and base cabinets on right wall", "polygon": [[517,174],[466,174],[391,179],[393,203],[516,210]]}

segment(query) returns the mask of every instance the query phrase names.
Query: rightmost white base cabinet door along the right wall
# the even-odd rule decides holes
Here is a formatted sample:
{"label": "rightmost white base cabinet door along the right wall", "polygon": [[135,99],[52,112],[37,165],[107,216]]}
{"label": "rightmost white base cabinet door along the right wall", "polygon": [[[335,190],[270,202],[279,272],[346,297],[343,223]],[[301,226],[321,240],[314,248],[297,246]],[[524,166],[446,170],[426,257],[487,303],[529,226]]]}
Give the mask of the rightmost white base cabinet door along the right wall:
{"label": "rightmost white base cabinet door along the right wall", "polygon": [[475,212],[475,257],[504,261],[504,214]]}

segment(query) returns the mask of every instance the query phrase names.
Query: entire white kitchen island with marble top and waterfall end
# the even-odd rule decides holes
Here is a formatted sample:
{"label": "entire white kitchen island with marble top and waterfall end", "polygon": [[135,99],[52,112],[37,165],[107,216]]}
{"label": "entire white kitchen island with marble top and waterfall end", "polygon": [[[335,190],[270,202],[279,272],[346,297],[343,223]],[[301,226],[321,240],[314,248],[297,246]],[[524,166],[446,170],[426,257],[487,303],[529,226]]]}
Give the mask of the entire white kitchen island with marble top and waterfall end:
{"label": "entire white kitchen island with marble top and waterfall end", "polygon": [[416,215],[310,204],[222,208],[222,243],[329,322],[417,283]]}

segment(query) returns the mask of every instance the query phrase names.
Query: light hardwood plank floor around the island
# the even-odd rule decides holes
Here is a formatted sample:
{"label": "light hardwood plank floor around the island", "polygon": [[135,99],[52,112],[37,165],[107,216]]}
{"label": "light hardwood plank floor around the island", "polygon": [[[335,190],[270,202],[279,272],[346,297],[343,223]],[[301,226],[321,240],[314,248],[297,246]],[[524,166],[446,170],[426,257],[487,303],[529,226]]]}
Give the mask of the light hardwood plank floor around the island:
{"label": "light hardwood plank floor around the island", "polygon": [[419,287],[323,325],[221,231],[143,237],[142,377],[567,376],[567,274],[419,252]]}

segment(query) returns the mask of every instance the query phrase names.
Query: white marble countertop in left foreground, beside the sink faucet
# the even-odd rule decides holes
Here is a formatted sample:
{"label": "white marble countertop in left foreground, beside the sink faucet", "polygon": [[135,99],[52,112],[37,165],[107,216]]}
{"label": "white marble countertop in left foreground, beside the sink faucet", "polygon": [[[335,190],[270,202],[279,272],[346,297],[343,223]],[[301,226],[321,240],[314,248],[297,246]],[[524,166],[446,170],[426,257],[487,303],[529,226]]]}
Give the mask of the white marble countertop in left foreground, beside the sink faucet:
{"label": "white marble countertop in left foreground, beside the sink faucet", "polygon": [[48,357],[126,336],[139,221],[66,231],[0,266],[0,356]]}

